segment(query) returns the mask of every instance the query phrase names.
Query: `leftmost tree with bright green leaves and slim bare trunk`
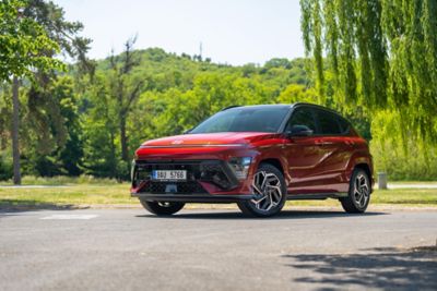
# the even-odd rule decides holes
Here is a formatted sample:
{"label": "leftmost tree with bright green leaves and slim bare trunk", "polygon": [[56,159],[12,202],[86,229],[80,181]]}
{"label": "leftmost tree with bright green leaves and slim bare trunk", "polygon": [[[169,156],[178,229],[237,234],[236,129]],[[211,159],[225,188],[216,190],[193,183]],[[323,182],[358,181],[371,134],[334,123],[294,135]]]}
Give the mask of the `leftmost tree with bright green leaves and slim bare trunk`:
{"label": "leftmost tree with bright green leaves and slim bare trunk", "polygon": [[24,2],[5,0],[0,2],[0,81],[12,80],[12,147],[14,183],[21,183],[20,172],[20,100],[19,78],[33,77],[34,69],[50,71],[60,69],[62,63],[43,51],[56,53],[59,46],[35,20],[23,15]]}

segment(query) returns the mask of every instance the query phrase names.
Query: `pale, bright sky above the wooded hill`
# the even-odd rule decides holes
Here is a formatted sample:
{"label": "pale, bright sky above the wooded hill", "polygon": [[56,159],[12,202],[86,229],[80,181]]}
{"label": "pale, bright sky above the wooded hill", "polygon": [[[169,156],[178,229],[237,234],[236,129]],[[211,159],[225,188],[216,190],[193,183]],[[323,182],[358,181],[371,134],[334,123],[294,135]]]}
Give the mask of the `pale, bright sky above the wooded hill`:
{"label": "pale, bright sky above the wooded hill", "polygon": [[90,57],[135,48],[199,54],[234,65],[304,56],[298,0],[54,0],[84,24]]}

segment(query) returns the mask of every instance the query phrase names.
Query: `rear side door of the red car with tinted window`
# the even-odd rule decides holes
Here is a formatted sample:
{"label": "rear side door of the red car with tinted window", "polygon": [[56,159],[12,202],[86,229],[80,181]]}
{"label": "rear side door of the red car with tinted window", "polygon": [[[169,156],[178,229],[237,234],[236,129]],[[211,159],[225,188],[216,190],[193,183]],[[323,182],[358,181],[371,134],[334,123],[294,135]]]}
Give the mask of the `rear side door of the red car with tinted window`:
{"label": "rear side door of the red car with tinted window", "polygon": [[318,140],[316,143],[323,153],[320,160],[320,183],[323,192],[342,192],[344,190],[344,171],[351,150],[340,117],[329,110],[315,109]]}

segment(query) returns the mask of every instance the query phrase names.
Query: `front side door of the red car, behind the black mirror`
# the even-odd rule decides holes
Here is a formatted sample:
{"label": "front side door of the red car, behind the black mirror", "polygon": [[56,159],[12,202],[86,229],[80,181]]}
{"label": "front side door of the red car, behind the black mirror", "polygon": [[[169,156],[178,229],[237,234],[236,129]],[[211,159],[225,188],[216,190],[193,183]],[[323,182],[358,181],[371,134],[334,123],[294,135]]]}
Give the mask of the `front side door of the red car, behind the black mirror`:
{"label": "front side door of the red car, behind the black mirror", "polygon": [[326,153],[318,144],[320,137],[316,134],[318,130],[315,109],[310,106],[295,108],[285,131],[290,132],[293,125],[305,125],[315,134],[292,136],[285,142],[284,155],[288,161],[288,174],[292,179],[287,191],[291,194],[323,192],[320,180],[323,173],[322,161]]}

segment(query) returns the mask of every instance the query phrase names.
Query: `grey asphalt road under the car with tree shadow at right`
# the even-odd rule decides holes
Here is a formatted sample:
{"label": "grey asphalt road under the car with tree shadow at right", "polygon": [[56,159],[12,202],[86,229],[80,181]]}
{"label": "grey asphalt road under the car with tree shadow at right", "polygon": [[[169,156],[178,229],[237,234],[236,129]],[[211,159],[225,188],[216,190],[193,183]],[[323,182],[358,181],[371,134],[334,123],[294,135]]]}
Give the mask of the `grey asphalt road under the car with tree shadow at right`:
{"label": "grey asphalt road under the car with tree shadow at right", "polygon": [[0,211],[0,290],[437,290],[436,239],[430,210]]}

